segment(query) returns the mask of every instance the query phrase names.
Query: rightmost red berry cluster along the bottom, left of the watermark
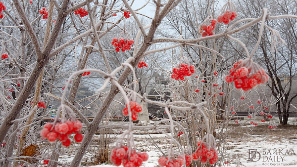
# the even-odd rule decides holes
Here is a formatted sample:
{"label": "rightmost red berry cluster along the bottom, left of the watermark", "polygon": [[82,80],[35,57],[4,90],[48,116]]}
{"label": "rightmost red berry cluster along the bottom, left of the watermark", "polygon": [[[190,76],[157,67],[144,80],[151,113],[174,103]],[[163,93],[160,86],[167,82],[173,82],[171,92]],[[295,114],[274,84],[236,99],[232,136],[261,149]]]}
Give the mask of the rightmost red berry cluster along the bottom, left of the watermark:
{"label": "rightmost red berry cluster along the bottom, left of the watermark", "polygon": [[213,149],[213,148],[209,149],[207,147],[207,144],[202,141],[198,141],[197,145],[198,145],[198,149],[192,155],[193,160],[196,161],[199,159],[199,157],[201,157],[200,159],[201,164],[206,164],[208,159],[210,165],[214,165],[218,161],[218,151],[216,149]]}

